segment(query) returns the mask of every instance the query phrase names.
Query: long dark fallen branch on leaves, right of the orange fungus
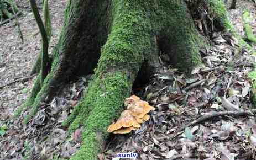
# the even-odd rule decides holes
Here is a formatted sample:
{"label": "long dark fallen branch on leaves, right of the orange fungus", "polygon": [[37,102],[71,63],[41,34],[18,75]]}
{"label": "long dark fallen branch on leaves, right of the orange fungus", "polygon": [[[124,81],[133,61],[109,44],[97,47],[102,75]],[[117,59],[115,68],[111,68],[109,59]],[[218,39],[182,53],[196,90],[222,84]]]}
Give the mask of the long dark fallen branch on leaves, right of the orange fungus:
{"label": "long dark fallen branch on leaves, right of the orange fungus", "polygon": [[186,127],[191,127],[191,126],[200,124],[200,123],[202,123],[204,121],[210,120],[210,119],[215,118],[217,116],[227,116],[227,115],[229,115],[229,116],[247,116],[247,115],[253,115],[255,113],[256,113],[256,109],[252,109],[252,110],[249,110],[249,111],[220,111],[220,112],[217,112],[217,113],[213,113],[211,115],[205,115],[205,116],[202,116],[201,118],[198,118],[198,119],[190,122],[186,126],[181,127],[180,129],[178,129],[176,131],[177,134],[174,135],[173,137],[171,137],[171,139],[173,139],[176,136],[182,134],[182,132],[184,131],[184,129]]}

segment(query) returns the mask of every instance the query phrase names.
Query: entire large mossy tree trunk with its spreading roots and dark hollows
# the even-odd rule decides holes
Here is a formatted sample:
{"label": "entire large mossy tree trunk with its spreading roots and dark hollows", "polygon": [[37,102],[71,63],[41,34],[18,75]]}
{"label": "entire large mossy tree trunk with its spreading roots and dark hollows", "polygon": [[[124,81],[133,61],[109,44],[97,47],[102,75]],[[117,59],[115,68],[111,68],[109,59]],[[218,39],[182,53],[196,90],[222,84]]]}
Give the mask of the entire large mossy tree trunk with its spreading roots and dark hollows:
{"label": "entire large mossy tree trunk with its spreading roots and dark hollows", "polygon": [[[209,2],[216,11],[214,17],[227,22],[226,11],[214,8],[223,7],[222,1]],[[122,111],[134,81],[153,76],[160,67],[159,56],[167,55],[170,65],[187,73],[201,63],[203,37],[191,13],[181,0],[67,1],[51,71],[43,87],[38,76],[32,95],[17,114],[29,109],[24,120],[28,122],[40,103],[51,100],[63,84],[95,71],[85,96],[64,125],[70,131],[85,126],[80,151],[71,159],[96,159],[107,138],[107,126]]]}

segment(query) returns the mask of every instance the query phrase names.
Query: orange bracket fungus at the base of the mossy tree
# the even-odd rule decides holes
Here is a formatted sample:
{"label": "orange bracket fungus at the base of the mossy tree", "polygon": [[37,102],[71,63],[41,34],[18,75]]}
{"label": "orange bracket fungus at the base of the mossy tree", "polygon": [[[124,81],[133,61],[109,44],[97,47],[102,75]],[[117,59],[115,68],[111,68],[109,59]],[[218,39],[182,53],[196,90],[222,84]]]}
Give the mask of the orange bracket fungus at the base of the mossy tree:
{"label": "orange bracket fungus at the base of the mossy tree", "polygon": [[155,108],[140,100],[139,97],[132,95],[124,100],[126,110],[121,113],[121,116],[116,122],[109,125],[107,131],[113,134],[127,134],[132,130],[137,130],[144,121],[149,120],[148,113]]}

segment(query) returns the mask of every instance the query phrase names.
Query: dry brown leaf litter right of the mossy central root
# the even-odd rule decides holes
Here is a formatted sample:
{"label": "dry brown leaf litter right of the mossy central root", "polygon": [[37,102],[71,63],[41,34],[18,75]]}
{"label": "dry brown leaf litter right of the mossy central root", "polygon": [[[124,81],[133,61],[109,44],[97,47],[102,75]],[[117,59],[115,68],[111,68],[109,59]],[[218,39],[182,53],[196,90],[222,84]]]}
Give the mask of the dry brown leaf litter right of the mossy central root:
{"label": "dry brown leaf litter right of the mossy central root", "polygon": [[[238,9],[230,10],[238,27],[244,6],[240,2]],[[238,30],[244,34],[243,26]],[[156,110],[139,130],[127,136],[113,135],[102,154],[105,159],[130,152],[138,153],[138,159],[256,159],[254,116],[217,116],[186,127],[202,116],[254,108],[252,79],[247,75],[254,70],[255,55],[238,50],[237,39],[230,34],[213,37],[213,47],[201,50],[203,65],[191,72],[192,77],[163,67],[136,93]]]}

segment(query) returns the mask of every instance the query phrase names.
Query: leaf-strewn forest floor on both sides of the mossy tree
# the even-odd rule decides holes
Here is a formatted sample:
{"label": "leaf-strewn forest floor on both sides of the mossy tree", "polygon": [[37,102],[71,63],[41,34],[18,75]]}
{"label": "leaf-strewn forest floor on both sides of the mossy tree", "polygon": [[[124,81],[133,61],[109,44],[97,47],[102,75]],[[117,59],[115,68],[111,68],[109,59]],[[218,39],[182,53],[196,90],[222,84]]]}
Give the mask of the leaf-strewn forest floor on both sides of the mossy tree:
{"label": "leaf-strewn forest floor on both sides of the mossy tree", "polygon": [[[50,51],[58,40],[65,3],[65,0],[50,1],[53,22]],[[61,122],[82,96],[90,76],[77,77],[77,81],[67,84],[51,103],[42,104],[27,125],[21,123],[28,114],[26,111],[17,120],[6,121],[29,95],[35,79],[30,71],[41,45],[27,0],[17,4],[23,13],[19,22],[24,42],[20,41],[13,22],[0,26],[0,87],[8,84],[0,88],[0,159],[69,158],[80,147],[82,127],[69,136]],[[245,9],[254,16],[252,26],[256,34],[256,8],[252,2],[238,1],[237,9],[229,10],[231,21],[243,36],[241,17]],[[256,159],[253,116],[215,118],[191,126],[185,134],[175,132],[201,115],[252,107],[249,100],[252,81],[247,74],[253,68],[255,56],[245,49],[234,54],[238,52],[236,44],[232,36],[216,33],[213,47],[202,51],[205,65],[195,68],[194,77],[187,78],[174,68],[156,75],[137,93],[156,107],[150,121],[133,134],[113,135],[98,158],[115,159],[117,153],[136,152],[140,159],[179,159],[179,156],[183,156],[180,159]],[[25,81],[9,84],[20,78]],[[191,88],[185,91],[188,86]]]}

